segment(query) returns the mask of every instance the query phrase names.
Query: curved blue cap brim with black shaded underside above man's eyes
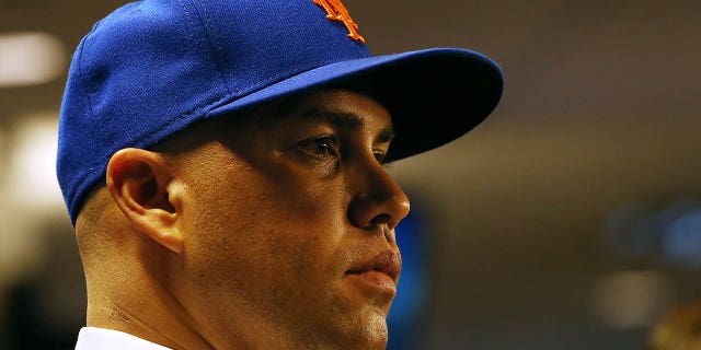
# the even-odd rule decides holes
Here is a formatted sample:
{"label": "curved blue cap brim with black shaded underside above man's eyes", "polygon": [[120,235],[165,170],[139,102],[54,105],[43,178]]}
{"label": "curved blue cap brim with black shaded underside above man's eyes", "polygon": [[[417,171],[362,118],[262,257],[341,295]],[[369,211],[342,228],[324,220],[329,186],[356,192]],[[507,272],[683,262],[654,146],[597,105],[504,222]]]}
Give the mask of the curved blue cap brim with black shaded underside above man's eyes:
{"label": "curved blue cap brim with black shaded underside above man's eyes", "polygon": [[446,144],[473,129],[496,107],[503,74],[489,57],[433,48],[322,66],[211,109],[216,117],[344,80],[371,82],[392,116],[397,138],[389,161]]}

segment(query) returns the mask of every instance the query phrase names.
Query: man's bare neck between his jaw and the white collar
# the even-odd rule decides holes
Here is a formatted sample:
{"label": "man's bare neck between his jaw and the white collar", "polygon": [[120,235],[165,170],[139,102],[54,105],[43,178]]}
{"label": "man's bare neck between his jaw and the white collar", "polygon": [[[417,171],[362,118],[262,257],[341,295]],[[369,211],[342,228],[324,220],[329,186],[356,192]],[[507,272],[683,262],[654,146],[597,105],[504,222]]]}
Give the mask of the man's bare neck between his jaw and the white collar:
{"label": "man's bare neck between his jaw and the white collar", "polygon": [[83,256],[87,325],[124,331],[174,350],[214,349],[203,327],[169,290],[165,249],[148,240],[119,244],[119,249]]}

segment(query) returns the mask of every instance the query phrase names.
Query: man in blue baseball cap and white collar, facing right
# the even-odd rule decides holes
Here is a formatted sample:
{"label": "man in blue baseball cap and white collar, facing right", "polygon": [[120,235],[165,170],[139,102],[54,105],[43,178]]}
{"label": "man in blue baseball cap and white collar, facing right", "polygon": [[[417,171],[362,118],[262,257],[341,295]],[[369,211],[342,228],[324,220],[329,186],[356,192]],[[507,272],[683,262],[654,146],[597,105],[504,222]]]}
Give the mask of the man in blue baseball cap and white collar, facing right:
{"label": "man in blue baseball cap and white collar, facing right", "polygon": [[59,125],[77,349],[386,347],[409,199],[383,165],[472,129],[502,73],[365,40],[338,1],[145,0],[95,24]]}

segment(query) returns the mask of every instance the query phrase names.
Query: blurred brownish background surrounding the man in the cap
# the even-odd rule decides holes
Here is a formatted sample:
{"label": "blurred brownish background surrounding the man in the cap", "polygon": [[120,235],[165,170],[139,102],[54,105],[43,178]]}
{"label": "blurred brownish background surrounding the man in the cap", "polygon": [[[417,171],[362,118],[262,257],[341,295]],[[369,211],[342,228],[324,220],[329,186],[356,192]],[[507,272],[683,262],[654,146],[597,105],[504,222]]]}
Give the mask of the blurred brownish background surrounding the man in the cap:
{"label": "blurred brownish background surrounding the man in the cap", "polygon": [[[57,117],[125,2],[0,0],[0,349],[72,349],[83,324]],[[466,47],[506,79],[476,129],[390,167],[413,198],[390,348],[643,349],[701,298],[701,2],[344,2],[375,54]]]}

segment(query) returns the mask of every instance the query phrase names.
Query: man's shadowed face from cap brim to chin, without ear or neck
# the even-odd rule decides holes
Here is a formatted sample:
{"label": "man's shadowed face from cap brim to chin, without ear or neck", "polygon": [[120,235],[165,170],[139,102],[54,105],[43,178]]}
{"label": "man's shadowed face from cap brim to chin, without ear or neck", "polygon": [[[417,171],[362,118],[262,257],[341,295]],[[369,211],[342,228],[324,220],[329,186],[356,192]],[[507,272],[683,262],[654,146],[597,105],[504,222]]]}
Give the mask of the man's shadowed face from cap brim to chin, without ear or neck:
{"label": "man's shadowed face from cap brim to chin, without ear or neck", "polygon": [[194,131],[216,136],[176,162],[174,294],[217,349],[384,348],[409,212],[388,110],[335,90],[257,114]]}

